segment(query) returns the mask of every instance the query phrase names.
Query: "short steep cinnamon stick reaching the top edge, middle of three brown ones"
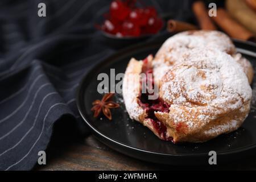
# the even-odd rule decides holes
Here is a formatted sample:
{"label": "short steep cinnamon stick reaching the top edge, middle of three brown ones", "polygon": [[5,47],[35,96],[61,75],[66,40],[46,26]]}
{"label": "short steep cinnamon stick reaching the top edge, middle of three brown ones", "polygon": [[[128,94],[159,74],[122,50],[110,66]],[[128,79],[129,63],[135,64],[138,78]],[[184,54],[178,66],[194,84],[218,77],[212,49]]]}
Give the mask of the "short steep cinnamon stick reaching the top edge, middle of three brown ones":
{"label": "short steep cinnamon stick reaching the top edge, middle of three brown ones", "polygon": [[209,17],[208,11],[203,1],[196,1],[192,5],[193,13],[196,16],[200,28],[203,30],[217,30],[216,26]]}

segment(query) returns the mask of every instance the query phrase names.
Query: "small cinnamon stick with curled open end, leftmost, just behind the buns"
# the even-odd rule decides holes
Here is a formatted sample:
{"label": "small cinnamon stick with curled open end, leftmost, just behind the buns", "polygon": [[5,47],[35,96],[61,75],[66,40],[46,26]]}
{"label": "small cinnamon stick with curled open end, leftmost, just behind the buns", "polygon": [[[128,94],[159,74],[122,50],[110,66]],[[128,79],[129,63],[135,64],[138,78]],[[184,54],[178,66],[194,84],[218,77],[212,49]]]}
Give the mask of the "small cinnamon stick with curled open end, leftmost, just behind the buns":
{"label": "small cinnamon stick with curled open end, leftmost, just behind the buns", "polygon": [[167,31],[169,32],[181,32],[181,31],[187,31],[187,30],[198,30],[196,26],[190,23],[186,22],[180,22],[177,20],[168,20],[167,22]]}

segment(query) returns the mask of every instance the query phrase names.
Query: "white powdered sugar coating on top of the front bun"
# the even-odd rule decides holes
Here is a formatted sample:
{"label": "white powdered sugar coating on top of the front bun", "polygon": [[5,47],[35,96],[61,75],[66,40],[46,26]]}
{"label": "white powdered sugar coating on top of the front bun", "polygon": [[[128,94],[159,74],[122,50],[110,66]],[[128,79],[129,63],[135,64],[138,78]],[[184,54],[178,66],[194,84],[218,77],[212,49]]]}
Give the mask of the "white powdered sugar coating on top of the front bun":
{"label": "white powdered sugar coating on top of the front bun", "polygon": [[217,49],[187,51],[164,79],[160,97],[171,104],[170,118],[188,127],[206,125],[214,116],[241,109],[251,99],[242,67]]}

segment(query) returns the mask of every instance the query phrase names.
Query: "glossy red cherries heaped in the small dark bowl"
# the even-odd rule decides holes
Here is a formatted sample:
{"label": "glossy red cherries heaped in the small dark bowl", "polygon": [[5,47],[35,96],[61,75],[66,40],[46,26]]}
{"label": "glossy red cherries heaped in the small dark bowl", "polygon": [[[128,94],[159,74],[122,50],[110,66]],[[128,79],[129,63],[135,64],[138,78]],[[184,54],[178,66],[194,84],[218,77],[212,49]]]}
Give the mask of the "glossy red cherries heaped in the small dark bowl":
{"label": "glossy red cherries heaped in the small dark bowl", "polygon": [[156,34],[163,26],[154,7],[136,7],[136,0],[115,0],[100,29],[116,36]]}

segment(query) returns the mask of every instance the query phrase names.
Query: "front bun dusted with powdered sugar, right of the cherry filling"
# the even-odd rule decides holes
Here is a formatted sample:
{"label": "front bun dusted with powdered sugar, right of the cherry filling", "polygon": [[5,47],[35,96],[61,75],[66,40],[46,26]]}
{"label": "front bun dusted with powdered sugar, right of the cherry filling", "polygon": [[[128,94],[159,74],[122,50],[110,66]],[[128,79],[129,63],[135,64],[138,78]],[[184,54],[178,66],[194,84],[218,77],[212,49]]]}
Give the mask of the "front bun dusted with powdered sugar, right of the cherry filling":
{"label": "front bun dusted with powdered sugar, right of the cherry filling", "polygon": [[192,49],[167,72],[160,97],[169,113],[155,113],[175,142],[204,142],[241,126],[251,88],[242,67],[218,49]]}

